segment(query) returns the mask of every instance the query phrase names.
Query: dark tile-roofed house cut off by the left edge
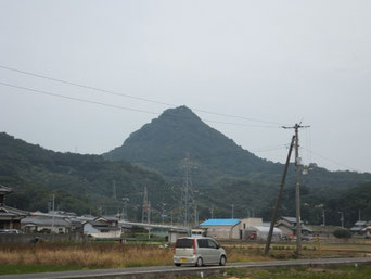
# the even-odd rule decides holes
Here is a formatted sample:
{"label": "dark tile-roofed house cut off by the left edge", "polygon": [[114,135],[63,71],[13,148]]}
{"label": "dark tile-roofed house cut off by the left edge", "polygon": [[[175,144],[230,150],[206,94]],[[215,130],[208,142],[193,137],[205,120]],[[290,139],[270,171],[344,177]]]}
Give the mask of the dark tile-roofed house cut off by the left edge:
{"label": "dark tile-roofed house cut off by the left edge", "polygon": [[5,205],[5,195],[12,192],[12,188],[0,185],[0,229],[21,229],[21,220],[28,215],[28,212]]}

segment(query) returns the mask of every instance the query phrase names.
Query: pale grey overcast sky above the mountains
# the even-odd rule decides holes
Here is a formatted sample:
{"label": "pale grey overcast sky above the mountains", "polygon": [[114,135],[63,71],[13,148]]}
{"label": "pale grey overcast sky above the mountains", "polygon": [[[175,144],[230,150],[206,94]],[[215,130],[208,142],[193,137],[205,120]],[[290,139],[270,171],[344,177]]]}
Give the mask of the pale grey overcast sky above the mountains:
{"label": "pale grey overcast sky above the mountains", "polygon": [[100,154],[186,104],[274,162],[293,132],[279,126],[303,121],[305,164],[371,172],[370,13],[369,0],[2,0],[0,131]]}

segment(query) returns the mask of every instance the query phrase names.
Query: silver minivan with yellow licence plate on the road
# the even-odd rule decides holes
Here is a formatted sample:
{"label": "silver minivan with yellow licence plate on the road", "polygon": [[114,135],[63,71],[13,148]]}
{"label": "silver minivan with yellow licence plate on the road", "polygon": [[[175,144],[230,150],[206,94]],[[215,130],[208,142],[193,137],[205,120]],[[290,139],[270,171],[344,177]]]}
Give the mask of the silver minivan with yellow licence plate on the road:
{"label": "silver minivan with yellow licence plate on the road", "polygon": [[174,248],[176,266],[183,264],[195,266],[219,264],[223,266],[226,263],[226,251],[212,238],[180,238]]}

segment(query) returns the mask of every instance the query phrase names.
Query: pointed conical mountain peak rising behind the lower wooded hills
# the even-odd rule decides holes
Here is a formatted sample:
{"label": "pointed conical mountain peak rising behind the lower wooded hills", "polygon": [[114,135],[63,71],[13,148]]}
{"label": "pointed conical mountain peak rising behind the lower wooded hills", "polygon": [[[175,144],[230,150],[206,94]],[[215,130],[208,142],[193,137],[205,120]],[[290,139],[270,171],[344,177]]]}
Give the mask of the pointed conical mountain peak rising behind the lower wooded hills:
{"label": "pointed conical mountain peak rising behind the lower wooded hills", "polygon": [[209,127],[187,106],[166,110],[158,118],[132,132],[119,148],[105,154],[155,169],[181,181],[189,157],[197,185],[210,185],[225,176],[281,172],[280,164],[259,158]]}

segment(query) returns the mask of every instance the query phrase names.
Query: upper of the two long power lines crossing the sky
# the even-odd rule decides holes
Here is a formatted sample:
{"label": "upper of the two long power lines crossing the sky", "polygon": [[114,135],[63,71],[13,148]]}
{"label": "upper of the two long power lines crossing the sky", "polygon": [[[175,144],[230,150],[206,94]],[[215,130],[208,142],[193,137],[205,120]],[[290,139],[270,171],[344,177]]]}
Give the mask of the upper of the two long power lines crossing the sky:
{"label": "upper of the two long power lines crossing the sky", "polygon": [[[108,93],[108,94],[124,97],[124,98],[130,98],[130,99],[135,99],[135,100],[139,100],[139,101],[143,101],[143,102],[150,102],[150,103],[155,103],[155,104],[161,104],[161,105],[166,105],[166,106],[172,106],[172,107],[178,106],[178,105],[171,104],[171,103],[159,102],[159,101],[155,101],[155,100],[151,100],[151,99],[146,99],[146,98],[141,98],[141,97],[136,97],[136,96],[126,94],[126,93],[121,93],[121,92],[116,92],[116,91],[112,91],[112,90],[101,89],[101,88],[97,88],[97,87],[92,87],[92,86],[87,86],[87,85],[82,85],[82,84],[73,83],[73,81],[65,80],[65,79],[60,79],[60,78],[54,78],[54,77],[50,77],[50,76],[39,75],[39,74],[35,74],[35,73],[31,73],[31,72],[26,72],[26,71],[13,68],[13,67],[7,67],[7,66],[3,66],[3,65],[0,65],[0,68],[8,69],[8,71],[11,71],[11,72],[16,72],[16,73],[20,73],[20,74],[23,74],[23,75],[29,75],[29,76],[34,76],[34,77],[38,77],[38,78],[43,78],[43,79],[48,79],[48,80],[52,80],[52,81],[56,81],[56,83],[62,83],[62,84],[71,85],[71,86],[76,86],[76,87],[80,87],[80,88],[84,88],[84,89],[89,89],[89,90],[93,90],[93,91],[98,91],[98,92]],[[257,122],[257,123],[282,125],[281,123],[277,123],[277,122],[269,122],[269,121],[263,121],[263,119],[257,119],[257,118],[251,118],[251,117],[225,114],[225,113],[219,113],[219,112],[212,112],[212,111],[206,111],[206,110],[200,110],[200,109],[196,109],[196,107],[190,107],[190,109],[192,111],[207,113],[207,114],[214,114],[214,115],[219,115],[219,116],[225,116],[225,117],[239,118],[239,119],[244,119],[244,121],[250,121],[250,122]]]}

